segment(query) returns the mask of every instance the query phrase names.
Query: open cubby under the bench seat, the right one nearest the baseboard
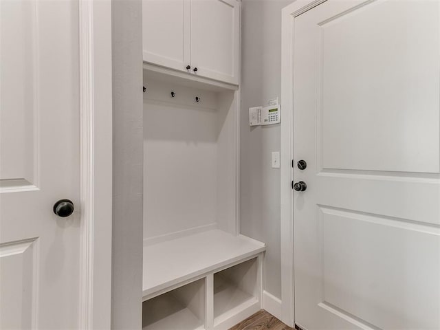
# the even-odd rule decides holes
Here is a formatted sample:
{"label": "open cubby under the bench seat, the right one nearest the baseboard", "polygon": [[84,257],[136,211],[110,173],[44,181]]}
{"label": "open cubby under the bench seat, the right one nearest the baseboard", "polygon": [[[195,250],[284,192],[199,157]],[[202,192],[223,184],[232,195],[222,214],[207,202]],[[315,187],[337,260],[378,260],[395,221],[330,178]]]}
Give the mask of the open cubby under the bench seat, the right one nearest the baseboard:
{"label": "open cubby under the bench seat, the right one nearest the baseboard", "polygon": [[214,274],[214,325],[237,309],[258,301],[258,260],[240,263]]}

